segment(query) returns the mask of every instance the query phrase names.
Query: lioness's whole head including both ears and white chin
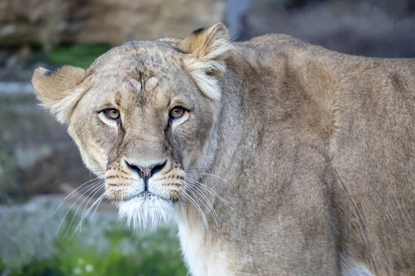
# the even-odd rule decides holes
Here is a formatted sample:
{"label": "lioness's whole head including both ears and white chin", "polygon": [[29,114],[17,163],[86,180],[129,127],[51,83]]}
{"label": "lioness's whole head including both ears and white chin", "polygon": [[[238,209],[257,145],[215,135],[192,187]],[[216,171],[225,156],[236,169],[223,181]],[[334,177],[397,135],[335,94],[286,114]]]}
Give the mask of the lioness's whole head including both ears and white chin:
{"label": "lioness's whole head including both ears and white chin", "polygon": [[[232,46],[221,24],[185,39],[131,41],[87,69],[39,68],[37,97],[68,125],[105,195],[138,226],[157,226],[214,158],[220,81]],[[100,174],[102,172],[102,174]]]}

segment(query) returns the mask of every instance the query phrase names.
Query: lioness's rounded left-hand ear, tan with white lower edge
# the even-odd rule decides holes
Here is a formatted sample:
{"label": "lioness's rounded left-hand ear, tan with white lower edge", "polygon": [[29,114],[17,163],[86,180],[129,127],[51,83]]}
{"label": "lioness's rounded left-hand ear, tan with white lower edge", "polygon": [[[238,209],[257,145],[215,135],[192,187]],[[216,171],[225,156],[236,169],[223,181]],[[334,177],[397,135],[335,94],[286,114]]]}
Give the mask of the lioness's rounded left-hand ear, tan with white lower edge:
{"label": "lioness's rounded left-hand ear, tan with white lower edge", "polygon": [[85,70],[73,66],[60,66],[53,70],[37,68],[32,84],[43,106],[64,124],[82,95],[82,88],[77,88],[77,85],[84,78]]}

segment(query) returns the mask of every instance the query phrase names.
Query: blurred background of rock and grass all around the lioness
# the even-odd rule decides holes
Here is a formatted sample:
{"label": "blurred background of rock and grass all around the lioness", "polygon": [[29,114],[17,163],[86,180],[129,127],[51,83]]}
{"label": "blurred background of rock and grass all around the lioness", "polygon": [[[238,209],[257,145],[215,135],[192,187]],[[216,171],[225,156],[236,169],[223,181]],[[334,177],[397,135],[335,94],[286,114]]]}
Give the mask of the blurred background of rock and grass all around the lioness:
{"label": "blurred background of rock and grass all around the lioness", "polygon": [[415,57],[414,0],[0,0],[1,276],[186,275],[174,226],[134,233],[107,204],[95,209],[100,190],[75,190],[96,182],[30,77],[216,21],[234,41],[279,32],[351,55]]}

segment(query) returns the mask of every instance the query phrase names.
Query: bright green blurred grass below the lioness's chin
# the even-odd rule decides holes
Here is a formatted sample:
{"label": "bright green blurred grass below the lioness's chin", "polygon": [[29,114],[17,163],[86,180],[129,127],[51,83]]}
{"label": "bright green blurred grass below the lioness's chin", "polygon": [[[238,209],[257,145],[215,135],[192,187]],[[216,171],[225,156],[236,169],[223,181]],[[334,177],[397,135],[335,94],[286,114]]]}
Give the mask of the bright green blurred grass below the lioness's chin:
{"label": "bright green blurred grass below the lioness's chin", "polygon": [[[178,243],[171,234],[169,230],[160,230],[154,236],[131,237],[129,231],[111,230],[107,233],[110,245],[106,250],[98,250],[99,246],[85,248],[76,235],[69,235],[57,243],[53,259],[29,264],[11,275],[184,276],[186,270]],[[126,248],[131,252],[123,252]]]}

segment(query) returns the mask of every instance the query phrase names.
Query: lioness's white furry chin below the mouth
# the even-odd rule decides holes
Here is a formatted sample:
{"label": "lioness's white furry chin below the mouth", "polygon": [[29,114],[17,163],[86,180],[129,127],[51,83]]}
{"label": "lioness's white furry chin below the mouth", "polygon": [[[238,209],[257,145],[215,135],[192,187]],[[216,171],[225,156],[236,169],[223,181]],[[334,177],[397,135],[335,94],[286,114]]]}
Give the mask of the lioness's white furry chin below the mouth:
{"label": "lioness's white furry chin below the mouth", "polygon": [[118,203],[120,219],[141,230],[156,230],[160,224],[167,225],[174,214],[173,202],[156,195],[145,194]]}

